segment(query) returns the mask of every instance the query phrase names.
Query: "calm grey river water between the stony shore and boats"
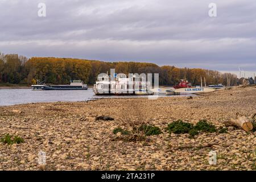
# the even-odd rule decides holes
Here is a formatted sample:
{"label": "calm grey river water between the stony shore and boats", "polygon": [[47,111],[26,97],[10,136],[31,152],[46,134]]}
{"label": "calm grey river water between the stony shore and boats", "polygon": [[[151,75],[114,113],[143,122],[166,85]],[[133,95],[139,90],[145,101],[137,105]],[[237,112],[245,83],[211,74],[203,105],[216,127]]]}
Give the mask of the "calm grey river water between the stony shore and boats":
{"label": "calm grey river water between the stony shore and boats", "polygon": [[[192,96],[185,95],[185,96]],[[32,89],[0,89],[0,106],[28,104],[35,102],[88,101],[98,98],[130,98],[147,96],[95,96],[93,89],[88,90],[32,90]],[[161,96],[184,97],[184,96]]]}

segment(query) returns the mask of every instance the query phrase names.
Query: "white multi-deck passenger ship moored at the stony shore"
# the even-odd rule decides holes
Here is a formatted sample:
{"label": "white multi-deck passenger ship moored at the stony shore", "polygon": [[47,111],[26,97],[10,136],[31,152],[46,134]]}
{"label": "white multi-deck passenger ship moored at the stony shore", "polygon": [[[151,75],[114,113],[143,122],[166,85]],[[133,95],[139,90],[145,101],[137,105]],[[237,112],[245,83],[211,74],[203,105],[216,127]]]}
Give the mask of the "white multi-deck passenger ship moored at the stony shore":
{"label": "white multi-deck passenger ship moored at the stony shore", "polygon": [[94,84],[93,92],[100,94],[116,95],[151,95],[151,82],[145,77],[127,77],[124,74],[118,74],[117,77],[102,76],[98,77]]}

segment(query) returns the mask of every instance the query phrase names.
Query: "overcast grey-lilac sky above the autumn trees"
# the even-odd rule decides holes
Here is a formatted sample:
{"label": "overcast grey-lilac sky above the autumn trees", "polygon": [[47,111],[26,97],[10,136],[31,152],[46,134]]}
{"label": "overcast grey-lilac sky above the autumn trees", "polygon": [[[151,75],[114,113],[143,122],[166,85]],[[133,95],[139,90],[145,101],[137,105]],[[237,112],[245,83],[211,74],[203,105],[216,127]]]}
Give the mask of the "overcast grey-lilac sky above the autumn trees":
{"label": "overcast grey-lilac sky above the autumn trees", "polygon": [[256,73],[255,0],[0,0],[0,19],[3,53]]}

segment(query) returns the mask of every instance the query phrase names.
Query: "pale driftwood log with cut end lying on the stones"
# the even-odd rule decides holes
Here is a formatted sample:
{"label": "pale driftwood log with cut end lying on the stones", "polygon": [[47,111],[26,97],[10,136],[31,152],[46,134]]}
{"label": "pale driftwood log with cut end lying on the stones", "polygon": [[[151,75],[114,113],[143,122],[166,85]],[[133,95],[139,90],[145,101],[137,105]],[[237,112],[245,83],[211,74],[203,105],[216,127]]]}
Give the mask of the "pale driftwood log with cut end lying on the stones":
{"label": "pale driftwood log with cut end lying on the stones", "polygon": [[230,119],[230,121],[225,122],[225,126],[235,126],[239,129],[245,130],[247,132],[253,130],[253,119],[256,114],[251,115],[250,117],[246,117],[245,115],[240,115],[237,113],[236,119]]}

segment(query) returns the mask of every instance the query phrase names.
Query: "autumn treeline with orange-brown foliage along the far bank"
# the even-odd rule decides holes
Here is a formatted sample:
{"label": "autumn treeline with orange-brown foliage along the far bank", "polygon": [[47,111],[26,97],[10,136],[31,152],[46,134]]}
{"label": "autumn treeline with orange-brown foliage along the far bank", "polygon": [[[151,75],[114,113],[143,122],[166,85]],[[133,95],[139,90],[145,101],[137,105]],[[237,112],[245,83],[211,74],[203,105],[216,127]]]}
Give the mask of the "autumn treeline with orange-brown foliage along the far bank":
{"label": "autumn treeline with orange-brown foliage along the far bank", "polygon": [[137,62],[103,62],[96,60],[66,59],[55,57],[32,57],[27,59],[18,55],[0,53],[0,82],[10,84],[35,84],[35,80],[51,84],[69,84],[70,80],[82,80],[94,84],[98,74],[110,72],[115,68],[117,73],[159,73],[160,85],[176,85],[180,79],[186,78],[192,85],[200,85],[201,77],[207,85],[237,85],[237,76],[231,73],[220,73],[206,69],[176,68],[174,66],[159,67],[152,63]]}

